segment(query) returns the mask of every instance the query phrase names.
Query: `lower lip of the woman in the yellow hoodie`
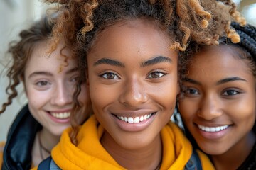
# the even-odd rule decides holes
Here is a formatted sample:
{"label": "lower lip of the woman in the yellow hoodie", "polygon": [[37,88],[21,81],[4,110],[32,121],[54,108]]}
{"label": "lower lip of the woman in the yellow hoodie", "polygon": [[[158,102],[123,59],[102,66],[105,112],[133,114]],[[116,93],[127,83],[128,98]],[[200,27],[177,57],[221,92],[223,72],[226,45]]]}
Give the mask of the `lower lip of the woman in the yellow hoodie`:
{"label": "lower lip of the woman in the yellow hoodie", "polygon": [[119,120],[119,118],[117,118],[114,115],[113,115],[113,118],[117,123],[117,125],[119,126],[119,128],[121,128],[122,130],[127,132],[139,132],[146,129],[152,123],[156,114],[157,113],[154,113],[153,115],[151,115],[150,118],[143,120],[142,122],[139,122],[139,123],[127,123],[122,120]]}

